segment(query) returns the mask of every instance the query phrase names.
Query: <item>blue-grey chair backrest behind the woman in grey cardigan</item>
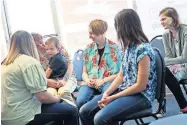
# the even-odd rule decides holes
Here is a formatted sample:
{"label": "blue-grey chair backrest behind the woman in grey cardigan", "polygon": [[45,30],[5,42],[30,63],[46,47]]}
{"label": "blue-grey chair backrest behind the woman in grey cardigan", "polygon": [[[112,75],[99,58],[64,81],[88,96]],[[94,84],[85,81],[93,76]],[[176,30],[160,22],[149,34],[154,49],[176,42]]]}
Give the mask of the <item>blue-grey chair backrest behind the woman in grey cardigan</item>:
{"label": "blue-grey chair backrest behind the woman in grey cardigan", "polygon": [[151,44],[152,47],[155,47],[155,48],[159,49],[161,55],[163,57],[165,57],[165,50],[164,50],[164,44],[163,44],[163,41],[162,41],[162,35],[155,36],[151,40],[150,44]]}

